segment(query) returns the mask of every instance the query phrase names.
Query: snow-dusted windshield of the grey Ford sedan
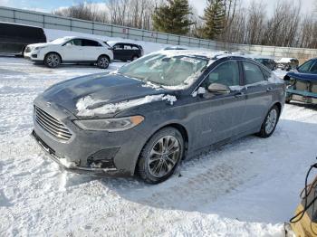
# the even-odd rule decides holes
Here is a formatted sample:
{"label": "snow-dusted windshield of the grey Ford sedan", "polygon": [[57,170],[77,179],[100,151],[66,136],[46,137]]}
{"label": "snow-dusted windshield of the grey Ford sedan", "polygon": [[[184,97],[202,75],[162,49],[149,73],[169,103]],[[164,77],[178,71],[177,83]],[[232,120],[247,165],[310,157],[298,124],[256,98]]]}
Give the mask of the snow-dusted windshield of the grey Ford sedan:
{"label": "snow-dusted windshield of the grey Ford sedan", "polygon": [[190,86],[205,70],[207,58],[154,53],[120,68],[120,74],[162,86]]}

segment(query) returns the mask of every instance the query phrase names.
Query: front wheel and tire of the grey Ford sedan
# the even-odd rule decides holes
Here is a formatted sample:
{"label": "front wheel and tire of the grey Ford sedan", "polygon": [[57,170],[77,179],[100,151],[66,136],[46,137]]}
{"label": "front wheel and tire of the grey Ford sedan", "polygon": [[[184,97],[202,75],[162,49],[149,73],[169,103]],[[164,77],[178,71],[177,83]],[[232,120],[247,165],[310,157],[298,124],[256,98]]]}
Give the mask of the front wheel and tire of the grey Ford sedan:
{"label": "front wheel and tire of the grey Ford sedan", "polygon": [[173,175],[184,154],[184,138],[176,128],[162,128],[149,138],[139,155],[139,176],[159,184]]}

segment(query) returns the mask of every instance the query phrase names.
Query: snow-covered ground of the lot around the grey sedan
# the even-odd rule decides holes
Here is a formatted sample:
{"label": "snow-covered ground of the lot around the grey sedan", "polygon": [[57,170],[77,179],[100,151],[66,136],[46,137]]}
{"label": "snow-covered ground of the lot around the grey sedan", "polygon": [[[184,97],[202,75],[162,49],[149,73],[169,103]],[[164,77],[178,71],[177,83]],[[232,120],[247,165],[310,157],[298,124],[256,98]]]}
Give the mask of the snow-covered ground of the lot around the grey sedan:
{"label": "snow-covered ground of the lot around the grey sedan", "polygon": [[286,105],[273,137],[184,162],[160,185],[62,172],[29,136],[32,102],[53,83],[100,71],[0,58],[0,236],[283,236],[317,156],[316,107]]}

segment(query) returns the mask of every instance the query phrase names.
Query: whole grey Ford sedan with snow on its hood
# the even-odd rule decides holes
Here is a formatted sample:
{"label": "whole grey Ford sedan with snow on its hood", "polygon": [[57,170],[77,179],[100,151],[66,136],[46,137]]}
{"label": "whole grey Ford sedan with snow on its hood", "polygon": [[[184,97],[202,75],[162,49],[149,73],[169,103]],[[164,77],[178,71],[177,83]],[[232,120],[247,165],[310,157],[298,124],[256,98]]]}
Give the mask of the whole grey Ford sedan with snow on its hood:
{"label": "whole grey Ford sedan with snow on its hood", "polygon": [[283,80],[253,60],[160,51],[44,91],[33,136],[66,169],[157,184],[199,150],[270,137],[284,101]]}

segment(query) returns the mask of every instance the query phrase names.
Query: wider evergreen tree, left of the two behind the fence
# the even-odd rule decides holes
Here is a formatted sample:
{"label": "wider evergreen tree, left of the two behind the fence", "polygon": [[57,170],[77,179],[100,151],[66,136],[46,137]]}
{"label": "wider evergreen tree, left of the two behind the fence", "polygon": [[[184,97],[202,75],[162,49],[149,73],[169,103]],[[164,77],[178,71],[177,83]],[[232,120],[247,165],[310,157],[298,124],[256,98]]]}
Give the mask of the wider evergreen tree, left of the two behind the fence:
{"label": "wider evergreen tree, left of the two behind the fence", "polygon": [[153,14],[153,28],[162,33],[187,34],[191,14],[188,0],[168,0],[160,5]]}

